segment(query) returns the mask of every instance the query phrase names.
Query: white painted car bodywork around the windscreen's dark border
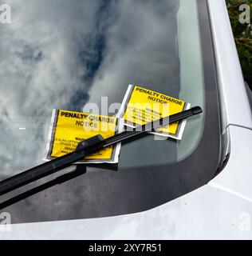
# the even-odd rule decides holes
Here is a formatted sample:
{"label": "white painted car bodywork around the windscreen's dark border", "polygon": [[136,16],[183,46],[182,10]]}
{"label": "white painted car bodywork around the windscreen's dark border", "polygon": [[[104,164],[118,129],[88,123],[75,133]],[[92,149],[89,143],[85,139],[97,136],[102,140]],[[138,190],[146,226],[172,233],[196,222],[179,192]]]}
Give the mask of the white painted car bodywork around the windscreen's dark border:
{"label": "white painted car bodywork around the windscreen's dark border", "polygon": [[206,186],[137,214],[12,225],[0,239],[252,238],[252,116],[224,0],[208,1],[230,158]]}

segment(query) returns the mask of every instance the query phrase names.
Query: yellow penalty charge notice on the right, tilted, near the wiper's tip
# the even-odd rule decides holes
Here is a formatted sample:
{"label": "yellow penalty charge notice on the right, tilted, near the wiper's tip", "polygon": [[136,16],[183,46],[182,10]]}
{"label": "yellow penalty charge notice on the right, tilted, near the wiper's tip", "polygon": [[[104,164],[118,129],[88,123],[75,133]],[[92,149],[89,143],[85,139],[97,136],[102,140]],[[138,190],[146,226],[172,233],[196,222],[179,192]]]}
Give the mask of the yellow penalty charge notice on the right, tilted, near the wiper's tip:
{"label": "yellow penalty charge notice on the right, tilted, near the wiper's tip", "polygon": [[[183,102],[180,99],[172,98],[144,87],[129,85],[120,111],[124,113],[124,124],[136,127],[183,110],[188,110],[190,107],[190,103]],[[157,129],[152,134],[180,140],[186,122],[186,119],[174,122],[169,126]]]}

